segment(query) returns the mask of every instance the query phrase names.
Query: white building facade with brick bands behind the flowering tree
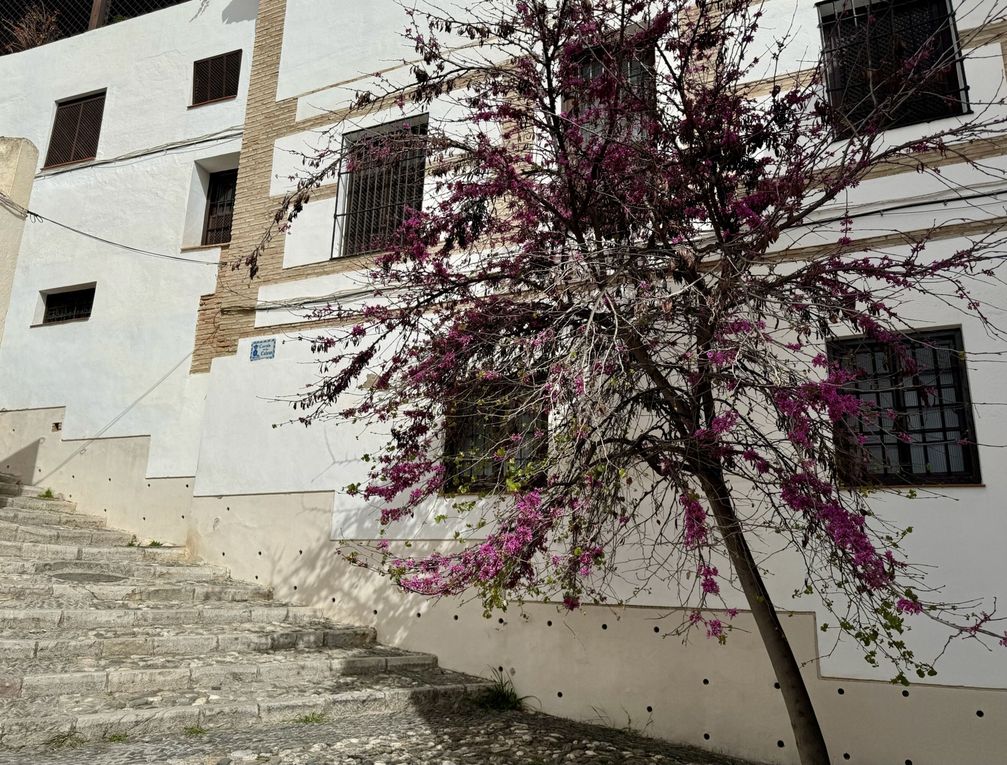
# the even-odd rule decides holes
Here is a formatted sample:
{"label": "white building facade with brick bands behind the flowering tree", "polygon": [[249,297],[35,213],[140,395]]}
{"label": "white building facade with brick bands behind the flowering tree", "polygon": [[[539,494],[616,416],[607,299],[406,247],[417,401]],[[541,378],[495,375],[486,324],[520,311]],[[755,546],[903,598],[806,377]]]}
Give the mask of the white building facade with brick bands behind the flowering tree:
{"label": "white building facade with brick bands behind the flowering tree", "polygon": [[[341,563],[338,540],[377,536],[373,508],[343,489],[367,477],[359,455],[381,434],[337,420],[284,425],[295,416],[290,400],[316,373],[298,339],[314,326],[303,306],[366,292],[367,257],[347,249],[338,178],[270,243],[255,278],[233,264],[260,244],[307,172],[304,156],[404,116],[349,111],[376,72],[408,74],[402,9],[395,0],[168,5],[0,57],[0,135],[10,139],[0,145],[0,190],[13,203],[0,208],[0,471],[141,539],[184,543],[281,599],[373,624],[386,642],[436,650],[449,668],[501,667],[545,712],[797,762],[744,613],[726,645],[683,644],[670,635],[678,604],[660,590],[618,609],[566,614],[528,603],[486,619],[477,604],[404,595]],[[763,11],[765,34],[794,35],[781,68],[800,76],[818,58],[828,9],[765,0]],[[1007,18],[997,13],[996,0],[958,7],[958,39],[974,53],[960,76],[975,103],[996,104],[1007,89]],[[981,25],[989,15],[994,22]],[[753,92],[771,88],[766,78]],[[450,119],[449,105],[439,109],[426,118]],[[897,130],[907,137],[919,127]],[[942,161],[945,173],[990,194],[964,210],[913,168],[877,173],[856,205],[877,211],[889,246],[906,246],[892,231],[936,226],[931,247],[954,252],[961,237],[1007,218],[994,193],[1007,180],[1007,136]],[[882,213],[892,199],[905,199],[906,211]],[[32,214],[18,214],[24,208]],[[960,330],[969,353],[1002,352],[950,309],[918,309],[921,329]],[[1003,387],[988,367],[968,384],[977,440],[995,444],[1007,428],[996,406]],[[896,520],[911,518],[913,553],[939,567],[951,597],[1007,583],[1007,456],[980,446],[976,459],[969,481],[912,503],[885,499]],[[447,544],[423,518],[396,533],[418,548]],[[770,586],[780,609],[794,609],[787,632],[837,761],[999,761],[1002,655],[957,643],[933,681],[903,690],[856,646],[833,644],[813,604],[792,601],[785,570]],[[923,629],[913,638],[922,652],[943,639]]]}

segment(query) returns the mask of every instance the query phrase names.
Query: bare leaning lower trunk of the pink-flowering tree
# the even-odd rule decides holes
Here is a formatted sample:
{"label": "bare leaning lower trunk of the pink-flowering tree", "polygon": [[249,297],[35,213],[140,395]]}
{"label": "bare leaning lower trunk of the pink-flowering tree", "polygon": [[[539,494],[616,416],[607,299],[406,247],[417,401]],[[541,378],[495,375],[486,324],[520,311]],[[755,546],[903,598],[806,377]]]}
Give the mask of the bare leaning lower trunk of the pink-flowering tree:
{"label": "bare leaning lower trunk of the pink-flowering tree", "polygon": [[829,750],[818,717],[815,715],[808,686],[805,684],[801,667],[790,649],[783,627],[779,623],[769,592],[755,565],[755,559],[744,537],[744,528],[734,512],[734,504],[724,476],[719,471],[710,472],[703,475],[702,480],[717,527],[724,538],[724,545],[731,557],[734,571],[738,575],[738,581],[741,582],[741,589],[748,599],[762,643],[776,673],[783,703],[786,705],[786,713],[790,717],[790,727],[798,742],[798,754],[802,765],[829,765]]}

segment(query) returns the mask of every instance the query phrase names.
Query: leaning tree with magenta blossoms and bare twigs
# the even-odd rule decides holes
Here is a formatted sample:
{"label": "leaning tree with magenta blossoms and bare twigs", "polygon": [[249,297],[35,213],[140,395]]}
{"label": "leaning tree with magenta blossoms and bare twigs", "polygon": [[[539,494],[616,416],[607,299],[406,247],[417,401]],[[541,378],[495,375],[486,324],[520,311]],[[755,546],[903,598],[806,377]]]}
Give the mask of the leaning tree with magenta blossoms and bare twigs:
{"label": "leaning tree with magenta blossoms and bare twigs", "polygon": [[[885,51],[859,79],[820,64],[760,90],[753,81],[786,60],[789,39],[766,43],[759,20],[747,0],[411,12],[414,82],[356,103],[396,105],[405,120],[314,157],[274,231],[325,178],[400,172],[423,147],[427,202],[403,203],[393,236],[373,231],[371,304],[315,312],[334,328],[313,338],[322,374],[298,407],[306,424],[390,428],[367,457],[370,480],[348,489],[380,506],[385,526],[451,503],[471,534],[429,556],[354,544],[350,561],[415,593],[474,590],[487,610],[617,597],[629,566],[638,586],[682,593],[684,632],[720,640],[734,615],[722,590],[740,590],[802,761],[825,763],[753,550],[788,550],[804,572],[798,594],[818,597],[902,681],[934,671],[905,642],[908,619],[1002,637],[992,609],[943,602],[903,551],[908,529],[872,510],[879,465],[891,466],[870,447],[913,437],[857,389],[865,369],[827,344],[867,338],[925,399],[937,394],[917,379],[903,306],[941,301],[996,331],[975,295],[996,279],[996,232],[941,250],[927,247],[934,228],[881,249],[863,241],[848,200],[879,168],[939,173],[1003,123],[997,105],[965,115],[948,93],[963,54],[947,21],[879,46],[884,18],[858,18],[861,31],[837,26],[833,42]],[[950,119],[905,142],[885,132],[925,99]],[[444,103],[464,117],[409,117]],[[963,431],[952,446],[973,442]]]}

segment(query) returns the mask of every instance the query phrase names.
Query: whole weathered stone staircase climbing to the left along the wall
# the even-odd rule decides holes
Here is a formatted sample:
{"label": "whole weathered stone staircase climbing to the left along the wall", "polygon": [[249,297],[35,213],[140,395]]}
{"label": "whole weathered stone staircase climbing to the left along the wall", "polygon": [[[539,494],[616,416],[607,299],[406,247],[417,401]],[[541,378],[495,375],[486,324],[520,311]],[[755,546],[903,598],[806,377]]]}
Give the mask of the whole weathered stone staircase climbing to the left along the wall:
{"label": "whole weathered stone staircase climbing to the left along the wall", "polygon": [[0,752],[451,706],[488,683],[0,474]]}

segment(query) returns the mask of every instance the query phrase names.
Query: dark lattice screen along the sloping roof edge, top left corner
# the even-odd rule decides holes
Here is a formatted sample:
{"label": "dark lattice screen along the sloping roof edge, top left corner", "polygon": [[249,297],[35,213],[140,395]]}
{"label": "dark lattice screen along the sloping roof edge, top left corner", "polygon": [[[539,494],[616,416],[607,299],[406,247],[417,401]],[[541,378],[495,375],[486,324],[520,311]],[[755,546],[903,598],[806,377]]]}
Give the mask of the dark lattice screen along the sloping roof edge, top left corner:
{"label": "dark lattice screen along the sloping roof edge, top left corner", "polygon": [[0,55],[28,50],[187,1],[3,0],[0,3]]}

